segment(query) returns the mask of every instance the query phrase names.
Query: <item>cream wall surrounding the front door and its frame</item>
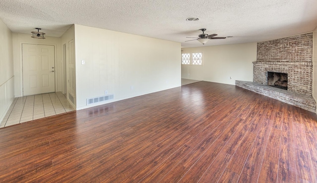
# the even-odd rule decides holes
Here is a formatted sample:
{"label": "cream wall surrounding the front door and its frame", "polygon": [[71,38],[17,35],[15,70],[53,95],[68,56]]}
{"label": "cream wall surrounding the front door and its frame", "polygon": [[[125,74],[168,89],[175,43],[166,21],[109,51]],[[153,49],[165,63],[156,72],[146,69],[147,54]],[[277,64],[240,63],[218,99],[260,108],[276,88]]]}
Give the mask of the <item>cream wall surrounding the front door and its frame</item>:
{"label": "cream wall surrounding the front door and its frame", "polygon": [[[45,31],[44,31],[45,32]],[[61,48],[60,38],[49,37],[46,39],[31,38],[32,34],[13,33],[13,62],[14,62],[14,95],[15,97],[22,96],[22,44],[39,44],[53,45],[55,48],[55,91],[62,90],[61,80],[63,73],[61,72]]]}

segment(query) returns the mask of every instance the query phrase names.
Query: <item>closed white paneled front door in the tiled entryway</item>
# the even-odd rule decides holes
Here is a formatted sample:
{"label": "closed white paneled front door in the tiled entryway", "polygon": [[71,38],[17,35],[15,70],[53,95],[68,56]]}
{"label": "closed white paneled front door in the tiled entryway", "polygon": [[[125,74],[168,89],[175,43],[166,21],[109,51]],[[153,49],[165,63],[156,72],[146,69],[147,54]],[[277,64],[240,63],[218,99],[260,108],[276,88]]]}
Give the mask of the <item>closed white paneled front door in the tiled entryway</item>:
{"label": "closed white paneled front door in the tiled entryway", "polygon": [[54,46],[22,44],[23,95],[55,92]]}

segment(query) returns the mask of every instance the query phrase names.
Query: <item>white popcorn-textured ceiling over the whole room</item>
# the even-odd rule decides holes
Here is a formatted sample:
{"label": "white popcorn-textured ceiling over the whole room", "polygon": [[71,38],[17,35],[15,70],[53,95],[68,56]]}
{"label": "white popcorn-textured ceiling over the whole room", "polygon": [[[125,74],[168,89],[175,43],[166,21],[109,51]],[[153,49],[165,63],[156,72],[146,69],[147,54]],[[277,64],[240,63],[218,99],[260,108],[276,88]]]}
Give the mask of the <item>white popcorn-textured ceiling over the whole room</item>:
{"label": "white popcorn-textured ceiling over the whole room", "polygon": [[[198,17],[198,21],[186,18]],[[12,32],[31,34],[35,27],[60,37],[72,24],[203,46],[260,42],[312,32],[317,0],[0,0],[0,19]],[[89,34],[89,33],[87,33]]]}

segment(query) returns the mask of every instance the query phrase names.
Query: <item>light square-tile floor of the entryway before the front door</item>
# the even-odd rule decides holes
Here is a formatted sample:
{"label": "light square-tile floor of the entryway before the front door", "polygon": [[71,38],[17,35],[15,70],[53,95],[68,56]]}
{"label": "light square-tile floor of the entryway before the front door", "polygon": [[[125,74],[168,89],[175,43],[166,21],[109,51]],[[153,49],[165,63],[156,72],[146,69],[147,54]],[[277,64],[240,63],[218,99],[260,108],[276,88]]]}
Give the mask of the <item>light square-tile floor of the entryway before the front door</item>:
{"label": "light square-tile floor of the entryway before the front door", "polygon": [[21,96],[14,98],[0,128],[74,110],[61,92]]}

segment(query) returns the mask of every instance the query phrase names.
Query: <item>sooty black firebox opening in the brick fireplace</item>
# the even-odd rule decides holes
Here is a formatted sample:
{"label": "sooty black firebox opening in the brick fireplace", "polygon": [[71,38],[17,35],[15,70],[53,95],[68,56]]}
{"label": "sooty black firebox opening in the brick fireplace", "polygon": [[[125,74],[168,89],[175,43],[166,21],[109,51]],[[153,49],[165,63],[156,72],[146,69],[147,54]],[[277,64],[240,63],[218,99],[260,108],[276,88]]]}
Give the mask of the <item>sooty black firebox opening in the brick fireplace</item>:
{"label": "sooty black firebox opening in the brick fireplace", "polygon": [[279,72],[267,72],[267,85],[287,90],[287,74]]}

